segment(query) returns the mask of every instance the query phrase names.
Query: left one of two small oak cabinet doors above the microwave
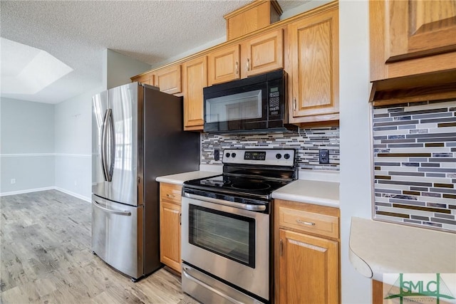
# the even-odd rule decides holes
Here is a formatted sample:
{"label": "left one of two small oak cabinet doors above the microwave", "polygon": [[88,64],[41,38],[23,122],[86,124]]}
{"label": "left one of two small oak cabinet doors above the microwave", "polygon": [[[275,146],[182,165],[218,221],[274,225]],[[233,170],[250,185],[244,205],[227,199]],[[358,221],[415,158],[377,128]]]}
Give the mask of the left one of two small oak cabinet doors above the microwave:
{"label": "left one of two small oak cabinet doors above the microwave", "polygon": [[227,46],[207,55],[209,85],[241,78],[239,44]]}

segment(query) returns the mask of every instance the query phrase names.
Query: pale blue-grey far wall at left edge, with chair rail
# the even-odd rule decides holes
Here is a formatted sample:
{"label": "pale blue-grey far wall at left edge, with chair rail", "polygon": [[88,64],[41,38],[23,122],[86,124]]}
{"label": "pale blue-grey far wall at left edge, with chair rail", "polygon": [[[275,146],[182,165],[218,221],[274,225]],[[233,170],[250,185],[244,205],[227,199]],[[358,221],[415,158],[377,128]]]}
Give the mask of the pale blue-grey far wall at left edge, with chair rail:
{"label": "pale blue-grey far wall at left edge, with chair rail", "polygon": [[0,109],[0,194],[53,187],[53,105],[1,98]]}

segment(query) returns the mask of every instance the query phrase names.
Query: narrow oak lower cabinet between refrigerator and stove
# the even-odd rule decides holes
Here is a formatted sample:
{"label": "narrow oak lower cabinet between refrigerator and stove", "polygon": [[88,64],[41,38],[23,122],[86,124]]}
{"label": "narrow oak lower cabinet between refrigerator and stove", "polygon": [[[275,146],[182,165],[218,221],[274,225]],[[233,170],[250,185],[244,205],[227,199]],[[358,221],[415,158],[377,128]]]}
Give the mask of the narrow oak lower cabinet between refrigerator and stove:
{"label": "narrow oak lower cabinet between refrigerator and stove", "polygon": [[181,190],[180,185],[160,183],[160,261],[179,273]]}

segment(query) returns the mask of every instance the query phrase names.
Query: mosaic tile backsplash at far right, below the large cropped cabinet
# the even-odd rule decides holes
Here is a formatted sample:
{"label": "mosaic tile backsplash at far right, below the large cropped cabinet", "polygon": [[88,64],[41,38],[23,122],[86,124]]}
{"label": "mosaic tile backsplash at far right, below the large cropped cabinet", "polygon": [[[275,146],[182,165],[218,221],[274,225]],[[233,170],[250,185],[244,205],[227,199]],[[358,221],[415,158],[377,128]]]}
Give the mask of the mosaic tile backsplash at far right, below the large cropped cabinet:
{"label": "mosaic tile backsplash at far right, below the large cropped cabinet", "polygon": [[373,108],[374,219],[456,232],[456,100]]}

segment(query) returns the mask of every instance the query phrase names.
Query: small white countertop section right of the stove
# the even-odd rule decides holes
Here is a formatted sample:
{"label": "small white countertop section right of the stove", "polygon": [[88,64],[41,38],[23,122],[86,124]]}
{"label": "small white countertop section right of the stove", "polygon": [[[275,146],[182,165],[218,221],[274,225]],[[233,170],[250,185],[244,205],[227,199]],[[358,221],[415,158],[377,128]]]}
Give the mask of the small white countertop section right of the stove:
{"label": "small white countertop section right of the stove", "polygon": [[272,192],[274,199],[339,207],[339,183],[298,179]]}

